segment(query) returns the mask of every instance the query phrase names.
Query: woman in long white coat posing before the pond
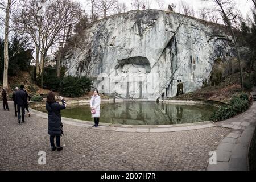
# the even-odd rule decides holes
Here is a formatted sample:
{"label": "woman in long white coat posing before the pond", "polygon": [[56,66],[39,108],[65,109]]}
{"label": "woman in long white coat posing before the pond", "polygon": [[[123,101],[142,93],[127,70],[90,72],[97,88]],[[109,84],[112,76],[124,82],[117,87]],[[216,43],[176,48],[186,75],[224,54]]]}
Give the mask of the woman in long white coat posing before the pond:
{"label": "woman in long white coat posing before the pond", "polygon": [[90,99],[90,108],[92,117],[94,118],[93,127],[98,127],[98,123],[100,122],[100,113],[101,113],[101,97],[98,95],[98,90],[95,90],[92,98]]}

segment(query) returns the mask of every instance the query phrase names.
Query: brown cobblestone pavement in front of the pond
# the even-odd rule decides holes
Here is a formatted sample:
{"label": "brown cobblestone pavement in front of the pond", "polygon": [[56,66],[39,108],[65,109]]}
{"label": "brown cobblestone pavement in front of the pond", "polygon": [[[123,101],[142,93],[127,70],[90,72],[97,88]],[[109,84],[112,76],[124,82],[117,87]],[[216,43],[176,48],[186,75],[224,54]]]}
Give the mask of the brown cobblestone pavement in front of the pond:
{"label": "brown cobblestone pavement in front of the pond", "polygon": [[[125,133],[64,125],[63,151],[51,151],[47,119],[18,124],[13,103],[0,109],[0,170],[205,170],[224,127],[168,133]],[[46,152],[46,165],[38,152]]]}

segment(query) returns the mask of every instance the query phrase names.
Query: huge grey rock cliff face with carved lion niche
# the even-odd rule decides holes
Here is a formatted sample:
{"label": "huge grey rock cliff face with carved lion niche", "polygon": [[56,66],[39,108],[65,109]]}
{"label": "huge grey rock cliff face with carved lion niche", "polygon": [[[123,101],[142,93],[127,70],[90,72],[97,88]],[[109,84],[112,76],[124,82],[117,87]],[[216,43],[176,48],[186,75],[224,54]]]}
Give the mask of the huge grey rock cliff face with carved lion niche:
{"label": "huge grey rock cliff face with carved lion niche", "polygon": [[101,19],[65,54],[66,75],[93,78],[99,92],[153,99],[200,89],[217,57],[236,57],[226,28],[160,10]]}

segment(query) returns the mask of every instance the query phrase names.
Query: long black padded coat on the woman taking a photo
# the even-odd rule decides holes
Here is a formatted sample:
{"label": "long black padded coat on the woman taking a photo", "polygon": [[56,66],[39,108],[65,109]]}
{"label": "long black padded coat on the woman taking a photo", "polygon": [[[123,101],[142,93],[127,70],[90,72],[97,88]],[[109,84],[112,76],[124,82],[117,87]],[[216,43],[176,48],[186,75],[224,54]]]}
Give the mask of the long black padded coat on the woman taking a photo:
{"label": "long black padded coat on the woman taking a photo", "polygon": [[[59,102],[46,102],[46,110],[48,111],[48,134],[61,136],[61,115],[60,110],[65,109],[64,100],[61,101],[62,105]],[[55,111],[53,111],[55,110]],[[57,115],[56,115],[56,114]]]}

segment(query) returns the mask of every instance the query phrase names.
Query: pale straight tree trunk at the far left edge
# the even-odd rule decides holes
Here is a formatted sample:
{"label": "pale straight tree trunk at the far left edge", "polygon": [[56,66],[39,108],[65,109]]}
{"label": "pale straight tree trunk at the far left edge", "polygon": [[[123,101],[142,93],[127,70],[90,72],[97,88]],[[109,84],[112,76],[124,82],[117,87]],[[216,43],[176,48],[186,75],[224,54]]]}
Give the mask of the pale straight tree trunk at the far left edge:
{"label": "pale straight tree trunk at the far left edge", "polygon": [[3,88],[8,89],[8,35],[9,35],[9,18],[10,18],[11,0],[8,0],[5,16],[5,46],[4,46],[4,67],[3,67]]}

